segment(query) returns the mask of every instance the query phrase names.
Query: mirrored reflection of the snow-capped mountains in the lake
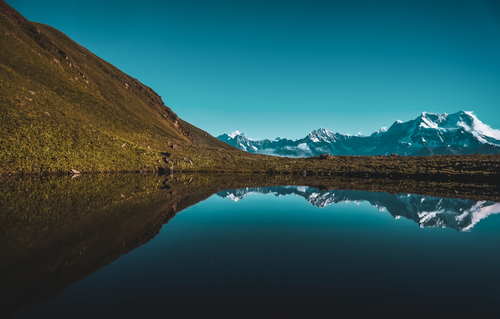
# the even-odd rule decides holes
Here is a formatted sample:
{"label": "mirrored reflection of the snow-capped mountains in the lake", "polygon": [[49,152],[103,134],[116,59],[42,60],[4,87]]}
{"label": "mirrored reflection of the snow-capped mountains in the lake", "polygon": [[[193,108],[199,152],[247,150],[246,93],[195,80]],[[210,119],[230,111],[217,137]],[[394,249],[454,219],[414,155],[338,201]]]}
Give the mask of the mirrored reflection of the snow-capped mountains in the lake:
{"label": "mirrored reflection of the snow-capped mountains in the lake", "polygon": [[295,194],[304,197],[311,205],[319,208],[339,202],[367,201],[380,211],[389,212],[394,218],[405,217],[420,227],[448,227],[469,231],[477,222],[491,214],[500,213],[500,203],[473,201],[457,198],[443,198],[416,194],[377,193],[354,190],[321,191],[308,186],[273,186],[230,189],[217,195],[233,201],[243,199],[251,193],[284,196]]}

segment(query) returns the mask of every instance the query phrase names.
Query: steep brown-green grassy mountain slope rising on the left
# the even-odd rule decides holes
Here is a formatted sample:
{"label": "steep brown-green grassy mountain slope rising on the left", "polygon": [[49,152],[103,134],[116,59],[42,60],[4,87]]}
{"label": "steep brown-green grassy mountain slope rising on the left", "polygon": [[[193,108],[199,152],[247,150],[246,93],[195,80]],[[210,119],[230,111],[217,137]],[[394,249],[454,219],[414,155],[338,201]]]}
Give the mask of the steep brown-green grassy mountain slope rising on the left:
{"label": "steep brown-green grassy mountain slope rising on the left", "polygon": [[147,86],[0,1],[0,171],[154,169],[175,143],[232,149],[180,120]]}

